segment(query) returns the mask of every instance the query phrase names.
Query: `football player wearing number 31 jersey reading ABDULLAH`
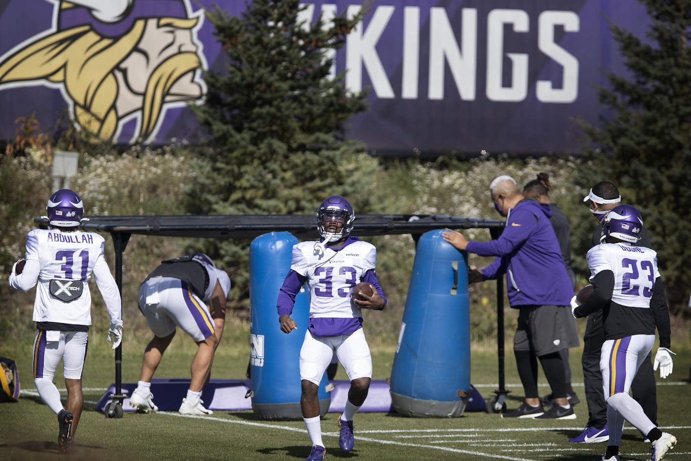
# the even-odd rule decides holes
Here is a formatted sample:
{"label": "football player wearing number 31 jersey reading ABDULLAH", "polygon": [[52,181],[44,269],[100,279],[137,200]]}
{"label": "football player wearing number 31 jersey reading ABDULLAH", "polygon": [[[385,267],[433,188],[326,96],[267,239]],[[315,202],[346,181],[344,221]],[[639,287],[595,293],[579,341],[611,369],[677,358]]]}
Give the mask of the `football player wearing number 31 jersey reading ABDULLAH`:
{"label": "football player wearing number 31 jersey reading ABDULLAH", "polygon": [[[12,266],[10,286],[28,291],[37,285],[32,318],[38,330],[33,349],[34,383],[41,399],[57,414],[58,444],[67,452],[84,406],[82,371],[91,325],[91,275],[111,319],[108,341],[113,339],[113,350],[122,341],[122,301],[103,254],[104,238],[79,230],[84,215],[79,195],[58,190],[48,199],[46,210],[50,226],[28,233],[26,257]],[[67,388],[64,407],[53,383],[60,359]]]}

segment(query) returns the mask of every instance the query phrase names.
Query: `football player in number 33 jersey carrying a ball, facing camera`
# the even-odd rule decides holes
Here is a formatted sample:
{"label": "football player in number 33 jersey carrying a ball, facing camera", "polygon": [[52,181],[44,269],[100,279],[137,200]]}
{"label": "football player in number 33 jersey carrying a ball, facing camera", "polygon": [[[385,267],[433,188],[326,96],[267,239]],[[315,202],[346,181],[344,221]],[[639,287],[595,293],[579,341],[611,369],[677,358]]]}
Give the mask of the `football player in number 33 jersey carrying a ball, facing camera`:
{"label": "football player in number 33 jersey carrying a ball, facing camera", "polygon": [[[365,401],[372,379],[372,356],[362,330],[361,309],[384,309],[386,297],[375,273],[377,249],[349,236],[354,219],[348,200],[339,195],[325,199],[316,211],[316,227],[322,238],[293,246],[292,265],[278,293],[281,331],[305,331],[300,377],[301,409],[312,442],[307,461],[323,460],[326,452],[317,392],[334,352],[350,380],[348,401],[338,422],[339,445],[345,452],[352,450],[352,419]],[[370,284],[372,294],[361,293],[366,300],[351,300],[352,287],[361,281]],[[310,318],[307,325],[296,325],[290,314],[305,283],[310,289]]]}

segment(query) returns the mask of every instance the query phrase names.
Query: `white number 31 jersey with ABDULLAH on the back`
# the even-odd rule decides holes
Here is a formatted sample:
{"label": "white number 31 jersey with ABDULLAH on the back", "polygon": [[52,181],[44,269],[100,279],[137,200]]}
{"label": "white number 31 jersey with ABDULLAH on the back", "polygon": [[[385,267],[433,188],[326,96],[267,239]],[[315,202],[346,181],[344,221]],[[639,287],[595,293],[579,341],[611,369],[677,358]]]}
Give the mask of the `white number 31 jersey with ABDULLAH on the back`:
{"label": "white number 31 jersey with ABDULLAH on the back", "polygon": [[[30,290],[38,282],[33,320],[70,325],[91,325],[93,274],[101,291],[111,324],[122,325],[120,291],[104,258],[104,238],[91,232],[34,229],[26,238],[26,265],[21,274],[10,275],[10,286]],[[50,281],[82,282],[82,295],[65,302],[50,291]]]}

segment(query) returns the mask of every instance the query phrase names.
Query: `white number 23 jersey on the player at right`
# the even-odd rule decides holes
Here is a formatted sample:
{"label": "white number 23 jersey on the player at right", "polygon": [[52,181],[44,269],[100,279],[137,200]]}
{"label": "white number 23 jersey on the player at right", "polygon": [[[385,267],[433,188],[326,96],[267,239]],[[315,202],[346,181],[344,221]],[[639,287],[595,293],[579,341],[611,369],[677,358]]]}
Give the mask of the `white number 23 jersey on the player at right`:
{"label": "white number 23 jersey on the player at right", "polygon": [[629,244],[599,244],[587,253],[590,280],[600,271],[614,273],[612,301],[626,307],[650,307],[652,288],[660,276],[656,251]]}

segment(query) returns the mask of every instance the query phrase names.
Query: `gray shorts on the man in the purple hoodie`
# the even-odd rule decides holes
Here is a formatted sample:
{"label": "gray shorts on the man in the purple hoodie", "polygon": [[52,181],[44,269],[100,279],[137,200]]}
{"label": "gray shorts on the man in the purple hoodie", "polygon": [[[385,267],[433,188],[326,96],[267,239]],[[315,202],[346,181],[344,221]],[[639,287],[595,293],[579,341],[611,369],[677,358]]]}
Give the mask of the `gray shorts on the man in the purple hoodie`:
{"label": "gray shorts on the man in the purple hoodie", "polygon": [[568,306],[521,306],[513,350],[529,350],[536,356],[578,347],[576,319]]}

